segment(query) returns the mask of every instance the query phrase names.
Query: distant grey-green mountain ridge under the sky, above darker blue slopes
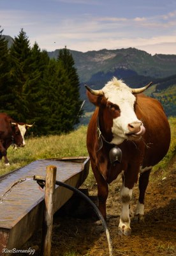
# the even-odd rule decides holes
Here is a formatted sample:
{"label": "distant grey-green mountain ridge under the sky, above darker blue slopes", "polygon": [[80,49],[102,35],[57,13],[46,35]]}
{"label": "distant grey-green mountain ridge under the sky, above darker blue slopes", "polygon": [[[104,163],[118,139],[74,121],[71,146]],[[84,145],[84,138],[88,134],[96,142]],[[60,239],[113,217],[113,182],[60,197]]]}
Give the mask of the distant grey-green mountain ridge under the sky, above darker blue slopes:
{"label": "distant grey-green mountain ridge under the sky, above darker blue slopes", "polygon": [[[71,51],[71,50],[70,50]],[[57,58],[59,50],[48,52]],[[78,52],[71,51],[81,82],[94,81],[94,77],[108,76],[117,70],[133,70],[139,76],[167,77],[176,74],[176,55],[151,54],[135,48]]]}

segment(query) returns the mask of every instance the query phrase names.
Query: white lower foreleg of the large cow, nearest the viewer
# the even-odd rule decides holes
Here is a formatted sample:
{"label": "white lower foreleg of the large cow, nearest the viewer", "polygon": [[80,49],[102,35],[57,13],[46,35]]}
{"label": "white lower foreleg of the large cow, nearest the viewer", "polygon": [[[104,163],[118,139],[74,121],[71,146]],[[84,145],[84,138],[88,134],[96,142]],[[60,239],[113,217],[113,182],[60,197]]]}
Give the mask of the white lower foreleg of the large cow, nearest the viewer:
{"label": "white lower foreleg of the large cow, nearest the viewer", "polygon": [[133,189],[126,188],[124,183],[121,188],[122,212],[119,223],[119,234],[129,236],[131,234],[130,218],[129,218],[129,201],[131,200]]}

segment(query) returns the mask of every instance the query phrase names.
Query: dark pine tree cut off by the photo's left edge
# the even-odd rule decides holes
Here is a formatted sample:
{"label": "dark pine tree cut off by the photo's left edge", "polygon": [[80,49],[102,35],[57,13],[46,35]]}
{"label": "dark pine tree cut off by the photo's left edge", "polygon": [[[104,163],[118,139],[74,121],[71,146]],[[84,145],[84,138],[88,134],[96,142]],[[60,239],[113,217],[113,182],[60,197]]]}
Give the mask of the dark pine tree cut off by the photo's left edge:
{"label": "dark pine tree cut off by the photo's left edge", "polygon": [[10,58],[8,42],[2,33],[3,29],[0,31],[0,112],[10,112],[13,97],[10,86]]}

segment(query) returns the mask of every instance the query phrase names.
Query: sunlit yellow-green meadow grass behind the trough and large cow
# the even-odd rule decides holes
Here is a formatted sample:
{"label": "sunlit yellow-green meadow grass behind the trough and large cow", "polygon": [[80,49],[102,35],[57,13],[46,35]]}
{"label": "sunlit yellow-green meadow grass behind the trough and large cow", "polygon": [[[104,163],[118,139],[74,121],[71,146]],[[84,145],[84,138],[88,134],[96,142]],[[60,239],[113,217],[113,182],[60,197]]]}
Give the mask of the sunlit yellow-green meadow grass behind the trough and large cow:
{"label": "sunlit yellow-green meadow grass behind the trough and large cow", "polygon": [[[176,150],[176,118],[170,118],[172,131],[172,143],[166,157],[154,167],[154,170],[165,169]],[[8,173],[31,163],[36,159],[52,157],[88,156],[86,148],[87,127],[81,126],[70,134],[52,135],[41,138],[30,138],[26,140],[26,147],[13,150],[8,148],[8,159],[10,166],[4,166],[4,159],[0,163],[0,175]]]}

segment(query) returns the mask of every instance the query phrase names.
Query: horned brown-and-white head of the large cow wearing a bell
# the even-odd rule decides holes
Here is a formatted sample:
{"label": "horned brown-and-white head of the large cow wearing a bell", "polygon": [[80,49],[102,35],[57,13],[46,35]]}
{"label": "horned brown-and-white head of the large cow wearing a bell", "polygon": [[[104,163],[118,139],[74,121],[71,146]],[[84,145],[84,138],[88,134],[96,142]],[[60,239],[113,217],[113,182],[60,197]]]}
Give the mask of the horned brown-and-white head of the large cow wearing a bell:
{"label": "horned brown-and-white head of the large cow wearing a bell", "polygon": [[111,143],[119,145],[125,139],[138,140],[145,132],[145,127],[135,113],[135,94],[143,92],[150,84],[140,89],[131,89],[114,77],[102,90],[92,90],[85,86],[89,100],[99,107],[103,129],[106,134],[112,134],[111,138],[109,136]]}

